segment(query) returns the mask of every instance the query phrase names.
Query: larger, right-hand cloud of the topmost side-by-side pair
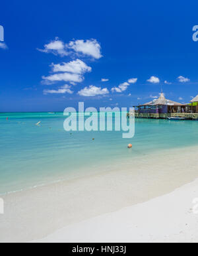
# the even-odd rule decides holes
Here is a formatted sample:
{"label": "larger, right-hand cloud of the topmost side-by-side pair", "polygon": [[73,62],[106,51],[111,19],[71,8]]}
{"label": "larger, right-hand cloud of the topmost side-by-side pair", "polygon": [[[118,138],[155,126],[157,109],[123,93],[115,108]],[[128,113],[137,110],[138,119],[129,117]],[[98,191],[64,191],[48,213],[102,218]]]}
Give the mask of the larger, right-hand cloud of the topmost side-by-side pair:
{"label": "larger, right-hand cloud of the topmost side-by-side pair", "polygon": [[92,56],[93,58],[101,58],[101,46],[96,39],[90,40],[73,40],[66,44],[66,47],[83,55]]}

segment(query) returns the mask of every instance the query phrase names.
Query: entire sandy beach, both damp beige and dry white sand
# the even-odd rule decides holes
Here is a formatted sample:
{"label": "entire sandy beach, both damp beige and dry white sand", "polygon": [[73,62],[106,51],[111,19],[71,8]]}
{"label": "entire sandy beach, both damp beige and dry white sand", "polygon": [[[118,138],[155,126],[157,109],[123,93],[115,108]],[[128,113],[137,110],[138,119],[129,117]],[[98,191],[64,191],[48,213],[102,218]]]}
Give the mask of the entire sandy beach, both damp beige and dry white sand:
{"label": "entire sandy beach, both damp beige and dry white sand", "polygon": [[197,147],[2,196],[0,241],[198,241]]}

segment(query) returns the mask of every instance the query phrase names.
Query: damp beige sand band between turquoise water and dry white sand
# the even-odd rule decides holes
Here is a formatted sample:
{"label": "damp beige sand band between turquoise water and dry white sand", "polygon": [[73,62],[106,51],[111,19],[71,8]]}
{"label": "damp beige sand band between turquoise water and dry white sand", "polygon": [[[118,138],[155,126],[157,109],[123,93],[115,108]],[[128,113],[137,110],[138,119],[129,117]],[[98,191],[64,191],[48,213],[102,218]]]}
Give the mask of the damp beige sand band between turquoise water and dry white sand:
{"label": "damp beige sand band between turquoise water and dry white sand", "polygon": [[[76,228],[72,225],[79,223],[80,228],[83,221],[170,193],[198,177],[197,152],[197,147],[160,152],[133,164],[123,163],[114,171],[2,196],[5,214],[0,215],[0,242],[39,240],[63,227],[72,233]],[[73,235],[73,241],[78,239]]]}

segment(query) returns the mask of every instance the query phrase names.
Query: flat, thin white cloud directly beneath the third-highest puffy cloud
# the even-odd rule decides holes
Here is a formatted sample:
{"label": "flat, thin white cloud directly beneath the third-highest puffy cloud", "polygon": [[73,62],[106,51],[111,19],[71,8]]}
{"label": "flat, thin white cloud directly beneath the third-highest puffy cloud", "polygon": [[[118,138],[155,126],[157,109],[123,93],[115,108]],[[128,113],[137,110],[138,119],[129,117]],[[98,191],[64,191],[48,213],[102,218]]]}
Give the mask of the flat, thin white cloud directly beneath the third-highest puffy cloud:
{"label": "flat, thin white cloud directly beneath the third-highest puffy cloud", "polygon": [[84,77],[81,74],[72,74],[72,73],[59,73],[59,74],[53,74],[50,76],[42,76],[42,79],[44,80],[44,84],[53,84],[57,81],[64,81],[64,82],[82,82],[84,80]]}

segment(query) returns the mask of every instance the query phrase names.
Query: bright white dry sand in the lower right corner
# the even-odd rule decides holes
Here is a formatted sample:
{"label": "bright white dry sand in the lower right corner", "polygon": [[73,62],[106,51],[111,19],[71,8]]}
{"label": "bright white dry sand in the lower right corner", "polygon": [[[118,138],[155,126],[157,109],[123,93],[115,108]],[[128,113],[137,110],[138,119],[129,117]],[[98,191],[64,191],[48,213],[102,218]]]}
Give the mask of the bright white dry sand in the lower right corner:
{"label": "bright white dry sand in the lower right corner", "polygon": [[36,242],[197,243],[197,230],[198,179],[149,202],[68,225]]}

